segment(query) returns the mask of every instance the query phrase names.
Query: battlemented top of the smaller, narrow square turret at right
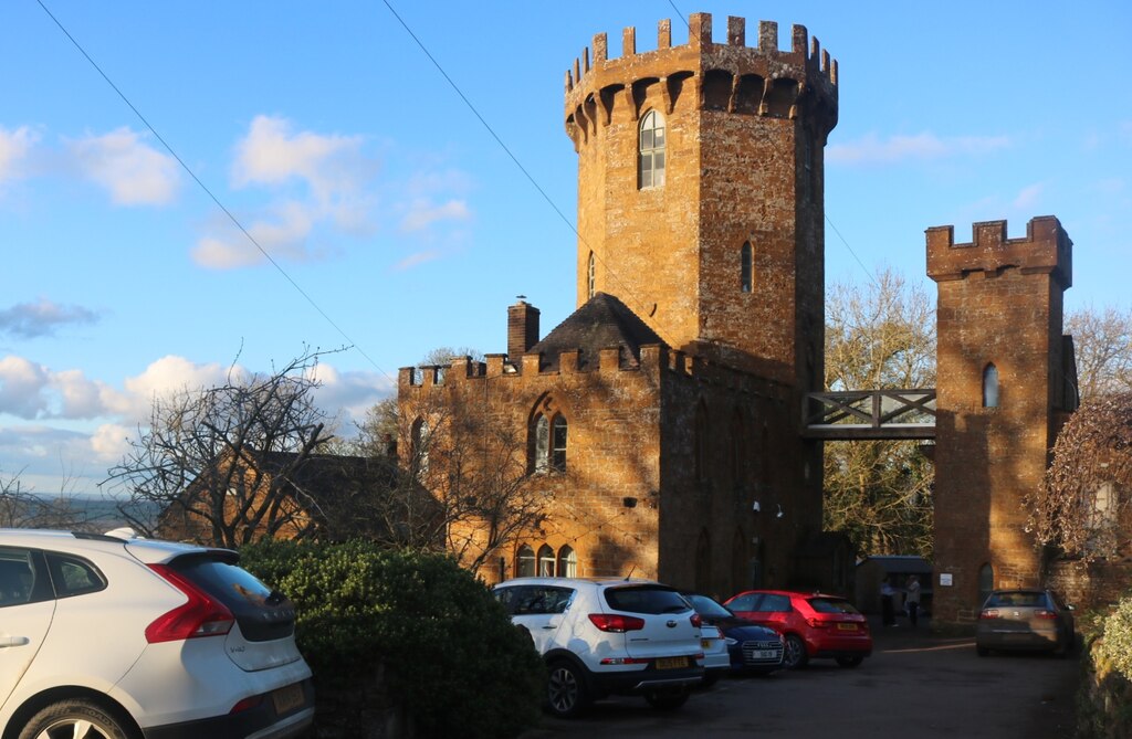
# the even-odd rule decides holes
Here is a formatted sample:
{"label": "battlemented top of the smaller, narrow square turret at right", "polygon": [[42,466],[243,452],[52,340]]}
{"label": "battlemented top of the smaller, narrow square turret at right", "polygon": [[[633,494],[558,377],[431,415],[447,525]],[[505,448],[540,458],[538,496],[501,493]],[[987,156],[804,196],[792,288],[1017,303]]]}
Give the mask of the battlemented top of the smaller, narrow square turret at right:
{"label": "battlemented top of the smaller, narrow square turret at right", "polygon": [[1022,274],[1049,274],[1062,290],[1073,284],[1073,241],[1055,216],[1031,218],[1024,239],[1007,239],[1005,221],[974,224],[970,243],[955,243],[954,226],[935,226],[925,233],[927,275],[935,282],[1018,268]]}

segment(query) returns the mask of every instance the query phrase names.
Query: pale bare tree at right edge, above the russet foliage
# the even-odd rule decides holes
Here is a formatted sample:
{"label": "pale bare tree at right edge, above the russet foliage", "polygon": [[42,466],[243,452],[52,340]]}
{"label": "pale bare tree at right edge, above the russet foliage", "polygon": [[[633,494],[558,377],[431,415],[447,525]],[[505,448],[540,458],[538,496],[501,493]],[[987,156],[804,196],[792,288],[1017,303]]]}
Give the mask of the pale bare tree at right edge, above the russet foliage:
{"label": "pale bare tree at right edge, above the russet foliage", "polygon": [[1065,317],[1082,399],[1132,390],[1132,310],[1089,306]]}

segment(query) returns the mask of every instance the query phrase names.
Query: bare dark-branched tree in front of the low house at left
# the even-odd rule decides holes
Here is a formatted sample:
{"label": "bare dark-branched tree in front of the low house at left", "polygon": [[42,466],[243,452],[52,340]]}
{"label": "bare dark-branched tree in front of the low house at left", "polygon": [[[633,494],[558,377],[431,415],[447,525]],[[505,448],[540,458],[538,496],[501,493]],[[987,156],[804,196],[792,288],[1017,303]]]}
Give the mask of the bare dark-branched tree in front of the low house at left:
{"label": "bare dark-branched tree in front of the low house at left", "polygon": [[311,398],[325,353],[307,350],[272,375],[232,370],[223,386],[155,398],[148,428],[106,480],[162,512],[154,522],[123,509],[131,525],[154,535],[178,522],[182,536],[229,548],[314,533],[319,502],[293,480],[331,438]]}

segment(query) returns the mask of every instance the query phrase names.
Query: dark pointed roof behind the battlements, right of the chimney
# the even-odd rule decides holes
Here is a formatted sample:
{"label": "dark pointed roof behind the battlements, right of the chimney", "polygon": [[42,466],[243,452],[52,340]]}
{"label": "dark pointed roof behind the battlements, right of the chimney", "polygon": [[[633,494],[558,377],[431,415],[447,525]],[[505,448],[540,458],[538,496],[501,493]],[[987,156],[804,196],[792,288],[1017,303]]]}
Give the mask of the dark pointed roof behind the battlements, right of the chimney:
{"label": "dark pointed roof behind the battlements, right of the chimney", "polygon": [[597,367],[602,349],[618,346],[623,364],[636,366],[642,346],[663,343],[625,303],[599,292],[532,346],[530,353],[541,353],[543,368],[552,370],[558,367],[559,354],[578,350],[578,368],[585,369]]}

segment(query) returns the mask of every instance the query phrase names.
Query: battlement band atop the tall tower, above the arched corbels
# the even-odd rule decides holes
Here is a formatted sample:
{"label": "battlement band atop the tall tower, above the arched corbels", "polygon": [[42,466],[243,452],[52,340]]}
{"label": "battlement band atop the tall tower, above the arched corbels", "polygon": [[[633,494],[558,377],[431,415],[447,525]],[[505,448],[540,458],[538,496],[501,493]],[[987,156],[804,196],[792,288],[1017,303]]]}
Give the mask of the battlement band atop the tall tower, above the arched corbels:
{"label": "battlement band atop the tall tower, above the arched corbels", "polygon": [[[764,79],[794,78],[805,81],[837,101],[838,62],[823,51],[817,38],[807,50],[808,32],[805,26],[792,26],[791,48],[778,46],[778,24],[758,22],[758,45],[746,45],[746,20],[728,17],[727,42],[712,43],[712,16],[696,12],[688,17],[688,43],[671,45],[671,22],[661,20],[657,34],[657,50],[637,53],[636,29],[625,28],[621,34],[621,55],[609,59],[606,34],[593,37],[591,48],[574,60],[566,72],[566,109],[573,111],[591,94],[610,86],[632,86],[638,79],[664,77],[674,70],[689,71],[721,69],[736,77],[758,75]],[[698,61],[697,61],[698,59]]]}

